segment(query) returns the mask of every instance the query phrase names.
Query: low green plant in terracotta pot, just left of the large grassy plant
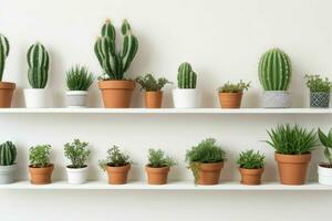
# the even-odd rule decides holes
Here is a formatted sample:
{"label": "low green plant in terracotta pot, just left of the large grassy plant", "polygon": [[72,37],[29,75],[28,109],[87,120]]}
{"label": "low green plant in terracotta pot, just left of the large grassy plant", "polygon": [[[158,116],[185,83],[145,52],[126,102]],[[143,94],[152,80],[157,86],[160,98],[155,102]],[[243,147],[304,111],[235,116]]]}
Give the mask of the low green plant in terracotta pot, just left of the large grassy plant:
{"label": "low green plant in terracotta pot, just left of the large grassy plant", "polygon": [[253,149],[240,152],[237,164],[241,173],[242,185],[260,185],[264,171],[264,155]]}

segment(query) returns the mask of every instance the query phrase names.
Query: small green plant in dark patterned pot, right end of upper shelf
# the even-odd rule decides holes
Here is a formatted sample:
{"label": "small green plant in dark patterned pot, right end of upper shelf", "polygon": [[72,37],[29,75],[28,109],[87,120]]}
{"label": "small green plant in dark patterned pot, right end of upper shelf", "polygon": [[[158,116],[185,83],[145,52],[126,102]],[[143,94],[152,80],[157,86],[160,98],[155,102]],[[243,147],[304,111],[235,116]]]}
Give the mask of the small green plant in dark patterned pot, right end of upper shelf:
{"label": "small green plant in dark patterned pot, right end of upper shelf", "polygon": [[320,75],[305,75],[304,77],[310,90],[310,107],[329,107],[332,82],[328,77],[323,80]]}

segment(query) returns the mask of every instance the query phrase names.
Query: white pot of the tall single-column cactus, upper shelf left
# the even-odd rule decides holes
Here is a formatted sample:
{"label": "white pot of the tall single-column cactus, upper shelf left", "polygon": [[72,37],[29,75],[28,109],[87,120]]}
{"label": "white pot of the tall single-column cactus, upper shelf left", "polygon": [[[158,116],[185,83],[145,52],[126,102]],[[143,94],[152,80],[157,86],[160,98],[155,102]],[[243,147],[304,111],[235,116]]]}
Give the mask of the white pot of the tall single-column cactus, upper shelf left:
{"label": "white pot of the tall single-column cactus, upper shelf left", "polygon": [[28,108],[49,107],[49,96],[45,88],[24,90],[25,106]]}

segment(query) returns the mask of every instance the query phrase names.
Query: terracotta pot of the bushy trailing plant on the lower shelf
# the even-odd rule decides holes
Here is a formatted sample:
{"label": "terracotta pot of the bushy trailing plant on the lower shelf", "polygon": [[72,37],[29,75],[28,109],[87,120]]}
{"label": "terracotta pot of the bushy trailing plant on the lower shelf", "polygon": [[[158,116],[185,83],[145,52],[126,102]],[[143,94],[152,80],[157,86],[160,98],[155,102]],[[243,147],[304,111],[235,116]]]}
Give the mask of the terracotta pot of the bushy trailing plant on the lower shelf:
{"label": "terracotta pot of the bushy trailing plant on the lower shelf", "polygon": [[218,185],[224,162],[200,164],[198,168],[198,185]]}

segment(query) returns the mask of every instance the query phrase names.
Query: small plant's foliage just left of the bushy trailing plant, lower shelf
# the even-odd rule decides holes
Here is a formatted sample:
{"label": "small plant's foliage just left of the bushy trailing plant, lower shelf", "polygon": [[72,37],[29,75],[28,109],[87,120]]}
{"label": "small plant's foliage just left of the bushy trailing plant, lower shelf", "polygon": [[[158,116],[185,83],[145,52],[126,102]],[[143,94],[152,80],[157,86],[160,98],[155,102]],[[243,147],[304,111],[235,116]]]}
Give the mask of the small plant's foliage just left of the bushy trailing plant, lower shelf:
{"label": "small plant's foliage just left of the bushy trailing plant, lower shelf", "polygon": [[168,156],[162,149],[148,149],[148,167],[162,168],[162,167],[173,167],[176,161]]}

